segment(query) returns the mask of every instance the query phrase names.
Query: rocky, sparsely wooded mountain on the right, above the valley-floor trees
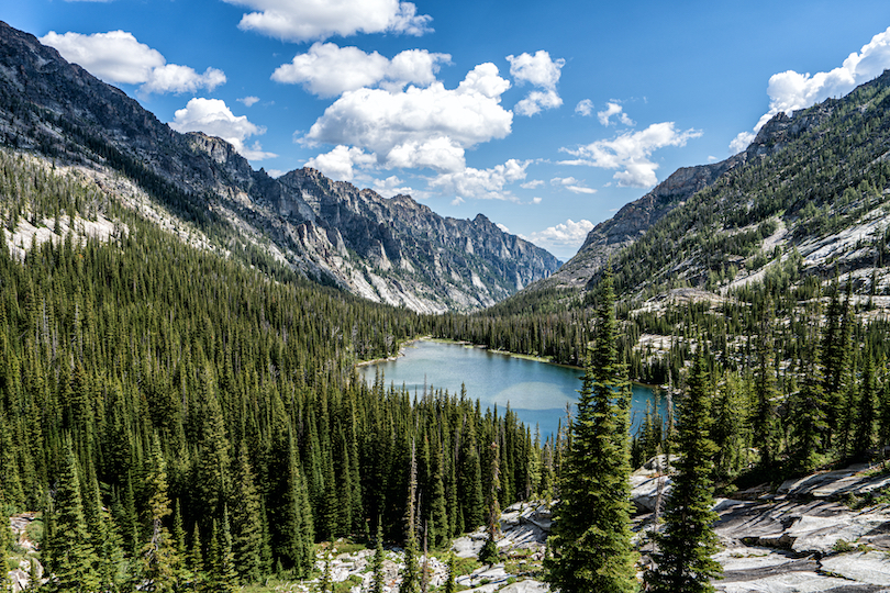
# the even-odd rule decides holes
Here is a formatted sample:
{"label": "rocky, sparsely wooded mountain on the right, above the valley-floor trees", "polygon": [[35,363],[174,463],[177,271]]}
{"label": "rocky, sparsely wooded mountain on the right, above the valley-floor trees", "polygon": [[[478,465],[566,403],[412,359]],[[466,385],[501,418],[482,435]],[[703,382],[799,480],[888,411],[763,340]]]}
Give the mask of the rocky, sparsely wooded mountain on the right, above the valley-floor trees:
{"label": "rocky, sparsely wooded mountain on the right, above the valley-floor trees", "polygon": [[889,97],[885,72],[843,99],[777,114],[743,153],[678,169],[598,224],[575,257],[520,300],[548,289],[583,292],[607,261],[627,296],[683,287],[725,293],[792,254],[801,281],[837,269],[880,294]]}

